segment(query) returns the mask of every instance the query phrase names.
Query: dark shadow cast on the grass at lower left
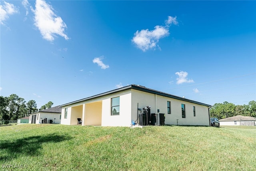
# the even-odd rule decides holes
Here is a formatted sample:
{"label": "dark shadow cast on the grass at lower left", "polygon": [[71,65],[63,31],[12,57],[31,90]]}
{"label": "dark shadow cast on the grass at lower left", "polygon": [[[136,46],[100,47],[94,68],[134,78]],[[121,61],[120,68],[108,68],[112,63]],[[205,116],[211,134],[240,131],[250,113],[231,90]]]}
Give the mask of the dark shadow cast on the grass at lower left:
{"label": "dark shadow cast on the grass at lower left", "polygon": [[71,139],[67,135],[38,135],[16,139],[14,141],[5,140],[0,142],[0,161],[10,161],[18,156],[38,156],[41,155],[43,143],[58,143]]}

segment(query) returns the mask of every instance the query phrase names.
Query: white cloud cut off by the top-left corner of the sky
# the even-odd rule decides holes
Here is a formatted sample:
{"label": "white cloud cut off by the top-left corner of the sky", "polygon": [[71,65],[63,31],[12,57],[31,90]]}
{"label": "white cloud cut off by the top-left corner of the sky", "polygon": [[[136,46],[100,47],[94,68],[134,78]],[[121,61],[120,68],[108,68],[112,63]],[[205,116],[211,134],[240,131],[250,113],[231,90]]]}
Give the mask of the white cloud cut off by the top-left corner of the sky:
{"label": "white cloud cut off by the top-left corner of the sky", "polygon": [[19,10],[14,4],[10,4],[4,1],[4,5],[0,5],[0,23],[4,25],[10,15],[18,13]]}

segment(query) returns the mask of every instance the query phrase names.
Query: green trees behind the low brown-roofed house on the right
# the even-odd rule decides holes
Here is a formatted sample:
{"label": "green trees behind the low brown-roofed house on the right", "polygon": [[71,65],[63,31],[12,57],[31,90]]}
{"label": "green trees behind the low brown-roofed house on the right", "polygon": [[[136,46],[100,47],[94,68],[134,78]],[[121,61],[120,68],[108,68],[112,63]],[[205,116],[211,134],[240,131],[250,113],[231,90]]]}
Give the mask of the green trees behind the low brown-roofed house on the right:
{"label": "green trees behind the low brown-roofed house on the right", "polygon": [[234,105],[224,101],[223,103],[215,103],[210,109],[211,117],[224,119],[236,115],[256,117],[256,101],[252,100],[248,105]]}

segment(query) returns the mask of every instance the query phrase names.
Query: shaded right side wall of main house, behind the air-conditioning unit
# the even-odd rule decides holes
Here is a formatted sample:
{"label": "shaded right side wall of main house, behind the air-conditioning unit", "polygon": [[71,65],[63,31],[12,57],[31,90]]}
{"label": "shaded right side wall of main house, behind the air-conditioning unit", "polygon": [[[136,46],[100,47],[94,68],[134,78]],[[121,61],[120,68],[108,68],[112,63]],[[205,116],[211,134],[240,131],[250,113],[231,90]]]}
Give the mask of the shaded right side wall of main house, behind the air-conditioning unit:
{"label": "shaded right side wall of main house, behind the air-conditioning unit", "polygon": [[[167,101],[171,102],[171,114],[167,112]],[[207,106],[132,89],[132,120],[134,121],[137,119],[138,103],[139,108],[151,106],[151,113],[158,113],[158,109],[159,113],[165,113],[167,125],[177,125],[177,119],[178,125],[210,125]],[[181,104],[185,104],[185,118],[182,118]],[[196,116],[193,113],[193,106],[196,107]]]}

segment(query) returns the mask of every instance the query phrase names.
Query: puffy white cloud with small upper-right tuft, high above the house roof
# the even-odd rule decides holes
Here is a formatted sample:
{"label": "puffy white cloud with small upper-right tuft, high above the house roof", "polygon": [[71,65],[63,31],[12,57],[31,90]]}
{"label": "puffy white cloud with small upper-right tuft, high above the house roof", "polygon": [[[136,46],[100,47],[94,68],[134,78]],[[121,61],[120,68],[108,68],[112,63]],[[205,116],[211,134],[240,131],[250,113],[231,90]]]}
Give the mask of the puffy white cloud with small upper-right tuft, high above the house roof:
{"label": "puffy white cloud with small upper-right tuft, high above the house roof", "polygon": [[[156,46],[158,46],[157,43],[159,42],[160,38],[169,36],[169,26],[171,24],[178,24],[176,16],[168,16],[168,20],[166,20],[165,23],[166,26],[155,26],[154,30],[137,30],[136,33],[134,33],[132,42],[134,42],[136,46],[143,52],[146,52],[146,50],[149,49],[155,49]],[[160,49],[159,46],[158,48]]]}

